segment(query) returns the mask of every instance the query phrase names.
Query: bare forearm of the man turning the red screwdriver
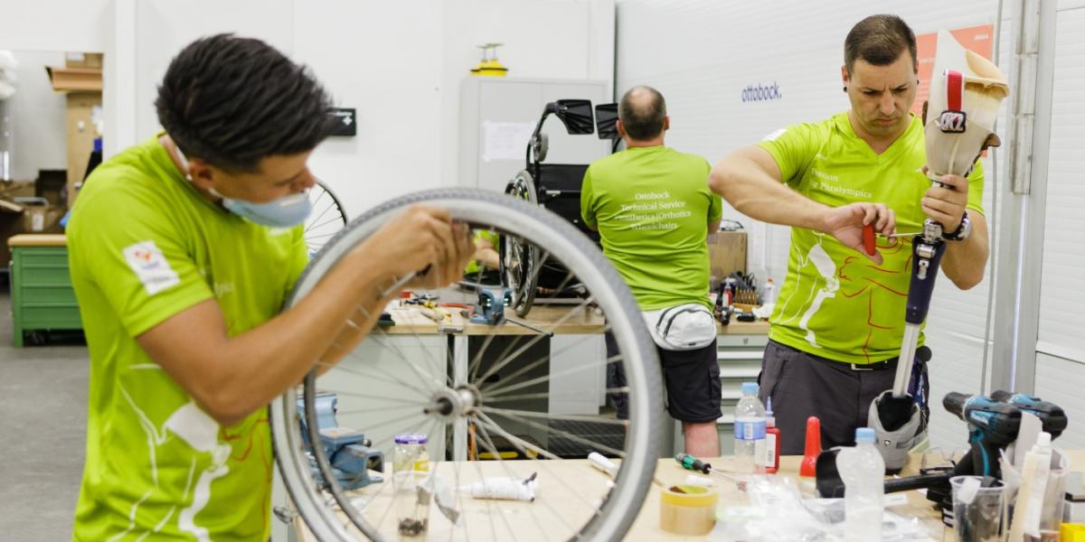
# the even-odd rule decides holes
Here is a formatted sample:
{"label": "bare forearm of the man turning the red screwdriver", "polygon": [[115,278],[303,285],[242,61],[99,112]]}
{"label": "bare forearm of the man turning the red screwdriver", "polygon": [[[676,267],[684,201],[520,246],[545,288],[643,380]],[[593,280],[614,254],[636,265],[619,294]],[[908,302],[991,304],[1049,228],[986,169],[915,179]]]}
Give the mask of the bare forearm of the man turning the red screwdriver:
{"label": "bare forearm of the man turning the red screwdriver", "polygon": [[712,169],[709,185],[739,212],[755,220],[824,231],[828,207],[789,189],[779,177],[776,162],[765,150],[745,147],[727,155]]}

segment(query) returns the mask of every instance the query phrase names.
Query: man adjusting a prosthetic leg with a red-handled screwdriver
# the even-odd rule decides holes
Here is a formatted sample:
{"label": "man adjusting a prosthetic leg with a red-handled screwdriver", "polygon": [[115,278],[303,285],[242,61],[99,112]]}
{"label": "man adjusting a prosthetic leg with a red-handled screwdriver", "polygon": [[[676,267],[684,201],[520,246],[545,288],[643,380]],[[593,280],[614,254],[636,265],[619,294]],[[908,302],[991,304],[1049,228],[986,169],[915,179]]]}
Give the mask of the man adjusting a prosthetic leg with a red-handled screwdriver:
{"label": "man adjusting a prosthetic leg with a red-handled screwdriver", "polygon": [[[864,225],[884,235],[897,227],[916,232],[931,217],[949,241],[945,274],[962,289],[983,279],[983,168],[976,164],[968,178],[943,177],[948,188],[931,185],[923,173],[923,122],[910,113],[917,73],[908,25],[895,15],[869,16],[844,40],[841,78],[851,109],[779,130],[712,171],[712,190],[736,209],[792,227],[788,276],[760,377],[761,398],[773,399],[783,434],[781,453],[803,452],[812,415],[821,418],[822,446],[852,444],[871,401],[893,388],[910,240],[884,237],[868,255]],[[926,421],[927,367],[903,362],[914,364],[910,392]]]}

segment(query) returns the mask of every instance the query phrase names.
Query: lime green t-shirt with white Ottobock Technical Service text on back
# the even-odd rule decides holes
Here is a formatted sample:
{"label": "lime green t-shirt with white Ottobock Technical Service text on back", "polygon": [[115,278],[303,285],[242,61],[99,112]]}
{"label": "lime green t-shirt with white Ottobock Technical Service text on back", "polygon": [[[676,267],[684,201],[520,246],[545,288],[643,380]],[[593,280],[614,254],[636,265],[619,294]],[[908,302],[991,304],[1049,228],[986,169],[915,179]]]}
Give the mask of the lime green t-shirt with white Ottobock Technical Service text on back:
{"label": "lime green t-shirt with white Ottobock Technical Service text on back", "polygon": [[709,222],[723,201],[704,158],[665,146],[633,147],[584,173],[580,216],[599,229],[641,310],[709,301]]}

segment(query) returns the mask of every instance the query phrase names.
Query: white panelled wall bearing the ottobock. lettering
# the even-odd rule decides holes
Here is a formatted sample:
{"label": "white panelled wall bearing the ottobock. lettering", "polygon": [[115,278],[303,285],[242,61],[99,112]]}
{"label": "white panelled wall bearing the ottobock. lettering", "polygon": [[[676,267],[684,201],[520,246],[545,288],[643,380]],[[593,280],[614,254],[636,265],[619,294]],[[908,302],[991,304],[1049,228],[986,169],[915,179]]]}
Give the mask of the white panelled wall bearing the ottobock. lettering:
{"label": "white panelled wall bearing the ottobock. lettering", "polygon": [[[840,76],[844,37],[873,13],[896,13],[916,34],[926,34],[993,24],[997,1],[848,1],[826,9],[794,0],[622,0],[616,90],[656,87],[671,115],[667,144],[715,163],[778,128],[847,109]],[[742,102],[743,89],[758,83],[779,85],[782,99]],[[990,158],[984,166],[991,170]],[[991,195],[988,189],[988,215]],[[725,218],[738,218],[751,230],[750,270],[779,283],[787,272],[790,230],[756,224],[730,208]],[[987,288],[986,280],[969,292],[958,291],[944,276],[939,282],[928,321],[928,341],[935,352],[932,397],[937,404],[946,391],[980,390]],[[932,412],[934,443],[961,446],[963,424],[939,405]]]}

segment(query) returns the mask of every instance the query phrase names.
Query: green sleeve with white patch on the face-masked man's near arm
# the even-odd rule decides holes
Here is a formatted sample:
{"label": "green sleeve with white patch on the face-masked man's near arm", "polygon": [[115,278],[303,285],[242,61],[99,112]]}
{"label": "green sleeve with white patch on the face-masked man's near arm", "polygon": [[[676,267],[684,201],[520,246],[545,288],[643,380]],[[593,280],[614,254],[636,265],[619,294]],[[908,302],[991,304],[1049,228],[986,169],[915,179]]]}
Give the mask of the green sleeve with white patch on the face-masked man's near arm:
{"label": "green sleeve with white patch on the face-masked man's near arm", "polygon": [[162,209],[125,191],[94,195],[74,217],[73,271],[89,274],[130,336],[214,297]]}

